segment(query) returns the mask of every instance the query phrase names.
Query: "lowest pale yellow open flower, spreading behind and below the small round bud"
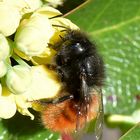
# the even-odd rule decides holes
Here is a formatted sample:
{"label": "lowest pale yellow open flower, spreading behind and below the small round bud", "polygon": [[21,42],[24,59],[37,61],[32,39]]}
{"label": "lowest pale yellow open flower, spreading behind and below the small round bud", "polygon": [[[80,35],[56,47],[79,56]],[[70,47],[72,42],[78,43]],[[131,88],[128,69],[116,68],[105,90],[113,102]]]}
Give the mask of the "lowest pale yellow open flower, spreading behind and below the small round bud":
{"label": "lowest pale yellow open flower, spreading behind and below the small round bud", "polygon": [[[34,108],[37,110],[33,103],[34,100],[51,98],[57,96],[61,89],[61,84],[57,80],[55,72],[48,70],[45,66],[33,66],[31,68],[32,82],[30,87],[22,94],[12,94],[7,87],[2,87],[2,93],[0,88],[0,117],[10,118],[16,110],[22,115],[30,116],[34,119],[28,108]],[[17,79],[15,77],[15,79]],[[21,79],[20,79],[21,80]],[[18,81],[22,84],[22,81]],[[23,83],[24,84],[24,83]],[[19,85],[19,84],[18,84]],[[15,87],[17,86],[15,84]]]}

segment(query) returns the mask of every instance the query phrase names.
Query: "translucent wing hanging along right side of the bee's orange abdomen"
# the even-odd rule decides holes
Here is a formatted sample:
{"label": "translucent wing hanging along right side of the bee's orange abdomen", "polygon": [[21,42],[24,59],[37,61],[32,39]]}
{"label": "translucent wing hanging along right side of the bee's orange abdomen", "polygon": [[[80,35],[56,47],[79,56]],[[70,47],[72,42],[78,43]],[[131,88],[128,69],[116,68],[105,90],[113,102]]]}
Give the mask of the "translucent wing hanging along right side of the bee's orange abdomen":
{"label": "translucent wing hanging along right side of the bee's orange abdomen", "polygon": [[99,95],[99,111],[97,114],[96,124],[95,124],[95,137],[96,140],[101,140],[104,122],[104,110],[103,110],[103,97],[101,89],[98,90]]}

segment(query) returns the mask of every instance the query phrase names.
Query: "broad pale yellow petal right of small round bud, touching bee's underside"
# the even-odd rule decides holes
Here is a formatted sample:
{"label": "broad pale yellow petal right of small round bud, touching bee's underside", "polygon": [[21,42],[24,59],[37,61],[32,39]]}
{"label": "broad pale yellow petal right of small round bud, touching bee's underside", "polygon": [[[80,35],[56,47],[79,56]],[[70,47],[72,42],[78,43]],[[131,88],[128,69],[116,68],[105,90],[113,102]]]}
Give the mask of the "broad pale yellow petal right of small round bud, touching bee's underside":
{"label": "broad pale yellow petal right of small round bud, touching bee's underside", "polygon": [[44,65],[32,67],[32,84],[23,94],[28,101],[51,98],[57,95],[61,84],[57,80],[57,74],[48,70]]}

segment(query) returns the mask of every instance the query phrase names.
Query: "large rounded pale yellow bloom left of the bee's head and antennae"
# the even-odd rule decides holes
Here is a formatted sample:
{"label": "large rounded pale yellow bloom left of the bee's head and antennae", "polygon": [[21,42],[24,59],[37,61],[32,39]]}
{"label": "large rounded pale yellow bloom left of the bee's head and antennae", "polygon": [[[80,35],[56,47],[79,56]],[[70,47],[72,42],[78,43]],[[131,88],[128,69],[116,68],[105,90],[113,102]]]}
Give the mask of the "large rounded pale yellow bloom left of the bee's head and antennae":
{"label": "large rounded pale yellow bloom left of the bee's head and antennae", "polygon": [[54,29],[46,16],[31,16],[22,21],[16,32],[16,48],[29,56],[39,55],[47,47],[53,33]]}

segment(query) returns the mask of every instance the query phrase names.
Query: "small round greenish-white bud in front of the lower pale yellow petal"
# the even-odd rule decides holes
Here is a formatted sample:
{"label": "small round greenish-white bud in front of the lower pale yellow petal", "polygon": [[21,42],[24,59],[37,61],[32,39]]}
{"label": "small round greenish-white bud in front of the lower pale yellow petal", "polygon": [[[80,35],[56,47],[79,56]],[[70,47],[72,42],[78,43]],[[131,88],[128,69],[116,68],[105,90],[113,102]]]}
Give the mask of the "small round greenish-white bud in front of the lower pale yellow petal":
{"label": "small round greenish-white bud in front of the lower pale yellow petal", "polygon": [[22,65],[12,67],[6,74],[6,84],[14,94],[21,94],[28,90],[31,79],[30,69]]}

